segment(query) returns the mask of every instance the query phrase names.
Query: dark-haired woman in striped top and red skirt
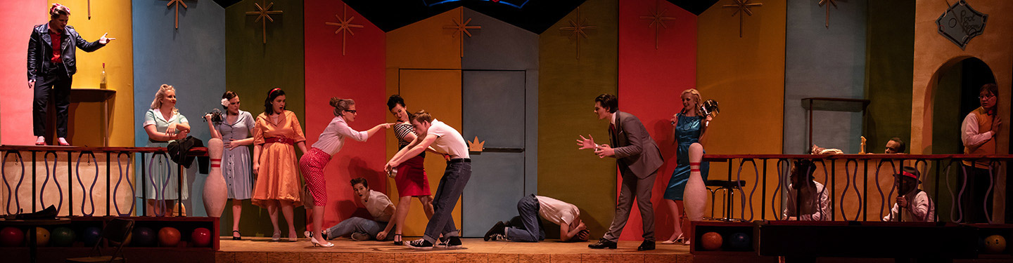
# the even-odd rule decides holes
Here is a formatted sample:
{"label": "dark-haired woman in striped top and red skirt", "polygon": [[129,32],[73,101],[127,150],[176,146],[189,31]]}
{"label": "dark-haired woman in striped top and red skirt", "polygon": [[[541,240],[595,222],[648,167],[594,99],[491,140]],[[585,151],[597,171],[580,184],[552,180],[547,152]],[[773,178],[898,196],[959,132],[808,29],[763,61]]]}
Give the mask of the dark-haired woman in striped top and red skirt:
{"label": "dark-haired woman in striped top and red skirt", "polygon": [[[400,151],[411,141],[415,141],[415,128],[408,120],[411,113],[408,113],[404,99],[397,94],[391,95],[387,99],[387,108],[397,118],[397,123],[394,124],[394,136],[397,137],[397,150]],[[394,231],[394,245],[404,244],[401,240],[401,234],[404,230],[404,217],[408,215],[408,209],[411,208],[411,197],[418,198],[418,202],[421,202],[425,218],[433,217],[433,196],[430,195],[430,179],[425,177],[424,161],[425,152],[422,152],[397,167],[394,182],[397,184],[400,198],[397,200],[397,213],[394,214],[394,225],[397,225]],[[377,234],[377,240],[385,240],[387,234],[386,231]]]}

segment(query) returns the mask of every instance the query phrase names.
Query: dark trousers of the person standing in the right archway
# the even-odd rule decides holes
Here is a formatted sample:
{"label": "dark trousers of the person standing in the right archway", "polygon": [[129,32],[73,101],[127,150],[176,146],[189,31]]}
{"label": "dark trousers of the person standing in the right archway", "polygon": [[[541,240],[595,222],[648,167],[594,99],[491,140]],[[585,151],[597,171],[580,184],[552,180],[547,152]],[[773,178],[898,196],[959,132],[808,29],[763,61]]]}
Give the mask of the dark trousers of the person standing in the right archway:
{"label": "dark trousers of the person standing in the right archway", "polygon": [[[957,192],[961,188],[963,189],[963,194],[960,195],[960,207],[963,211],[961,223],[989,223],[986,215],[992,214],[992,195],[996,193],[994,188],[989,192],[989,178],[993,178],[991,185],[995,185],[997,182],[989,174],[989,169],[975,168],[973,166],[963,166],[963,169],[967,171],[967,176],[957,180]],[[993,171],[998,172],[998,170]],[[966,182],[962,180],[964,178],[966,178]],[[989,214],[986,214],[986,211]]]}

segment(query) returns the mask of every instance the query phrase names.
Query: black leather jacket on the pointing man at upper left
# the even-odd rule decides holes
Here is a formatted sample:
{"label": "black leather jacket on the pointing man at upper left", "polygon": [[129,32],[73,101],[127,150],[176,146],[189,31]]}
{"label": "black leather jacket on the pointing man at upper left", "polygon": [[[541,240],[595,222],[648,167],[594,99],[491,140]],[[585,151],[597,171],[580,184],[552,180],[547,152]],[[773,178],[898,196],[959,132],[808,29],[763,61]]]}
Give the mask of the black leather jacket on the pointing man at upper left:
{"label": "black leather jacket on the pointing man at upper left", "polygon": [[[28,39],[28,81],[35,80],[38,76],[51,75],[53,70],[53,41],[50,38],[50,24],[44,23],[35,25],[31,30],[31,38]],[[67,77],[77,72],[77,60],[75,52],[77,49],[84,52],[93,52],[104,45],[95,41],[86,41],[74,30],[74,26],[64,27],[63,39],[60,41],[60,58],[67,70]]]}

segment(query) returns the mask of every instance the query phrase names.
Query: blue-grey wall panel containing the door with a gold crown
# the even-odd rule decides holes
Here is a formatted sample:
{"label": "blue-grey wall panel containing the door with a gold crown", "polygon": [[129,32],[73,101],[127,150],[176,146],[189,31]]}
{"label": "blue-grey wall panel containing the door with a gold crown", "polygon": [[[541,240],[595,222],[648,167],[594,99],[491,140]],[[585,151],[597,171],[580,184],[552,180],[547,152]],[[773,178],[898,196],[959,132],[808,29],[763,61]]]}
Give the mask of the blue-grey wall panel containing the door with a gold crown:
{"label": "blue-grey wall panel containing the door with a gold crown", "polygon": [[461,221],[463,236],[481,237],[538,192],[538,34],[470,9],[464,17],[482,28],[464,39],[463,136],[485,148],[524,149],[471,156],[475,180],[464,190]]}

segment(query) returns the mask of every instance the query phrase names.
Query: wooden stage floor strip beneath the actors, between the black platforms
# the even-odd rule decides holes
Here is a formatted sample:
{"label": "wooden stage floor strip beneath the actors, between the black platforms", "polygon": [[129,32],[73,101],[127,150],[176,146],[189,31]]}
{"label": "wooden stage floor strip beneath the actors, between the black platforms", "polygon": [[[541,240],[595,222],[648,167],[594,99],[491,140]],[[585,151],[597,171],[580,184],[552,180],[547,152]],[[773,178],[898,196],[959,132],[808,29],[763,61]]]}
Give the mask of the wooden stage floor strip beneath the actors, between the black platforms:
{"label": "wooden stage floor strip beneath the actors, between the black platforms", "polygon": [[333,248],[314,248],[306,239],[298,242],[268,242],[266,238],[222,240],[216,262],[692,262],[689,246],[657,245],[638,252],[640,242],[623,241],[619,249],[593,250],[590,243],[483,242],[464,239],[460,250],[416,251],[390,242],[331,241]]}

